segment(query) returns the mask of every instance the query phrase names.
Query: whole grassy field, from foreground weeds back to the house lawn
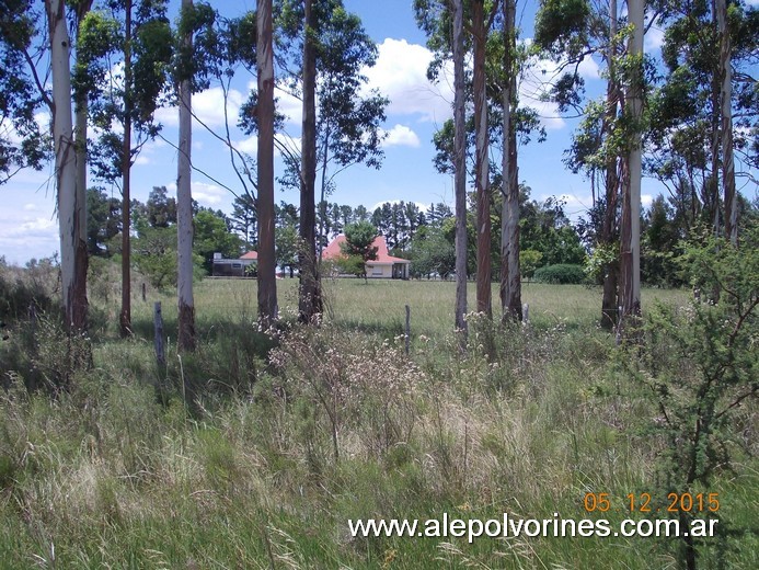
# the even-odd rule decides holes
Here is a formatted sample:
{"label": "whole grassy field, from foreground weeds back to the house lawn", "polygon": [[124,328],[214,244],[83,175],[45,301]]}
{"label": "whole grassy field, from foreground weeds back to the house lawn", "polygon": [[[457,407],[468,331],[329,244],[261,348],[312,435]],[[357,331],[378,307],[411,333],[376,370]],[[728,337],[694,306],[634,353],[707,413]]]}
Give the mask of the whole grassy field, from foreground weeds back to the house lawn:
{"label": "whole grassy field, from foreground weeds back to the house lawn", "polygon": [[[296,282],[277,285],[289,318]],[[1,353],[11,381],[0,390],[0,568],[677,568],[681,539],[350,536],[349,520],[444,513],[606,518],[612,529],[664,517],[628,506],[630,493],[665,505],[666,441],[645,383],[596,327],[598,289],[526,284],[530,327],[472,317],[465,353],[453,293],[441,282],[329,281],[323,326],[272,339],[254,324],[255,282],[206,280],[198,351],[182,357],[172,295],[136,298],[136,337],[123,341],[115,297],[93,294],[92,366],[55,399],[21,388],[31,366],[65,365],[65,341],[42,321],[28,369]],[[495,285],[494,295],[498,307]],[[688,298],[647,289],[644,310]],[[153,300],[164,367],[152,354]],[[754,406],[740,411],[724,442],[731,465],[692,489],[718,493],[724,529],[698,543],[699,568],[759,568],[756,418]],[[587,493],[609,493],[612,509],[588,513]]]}

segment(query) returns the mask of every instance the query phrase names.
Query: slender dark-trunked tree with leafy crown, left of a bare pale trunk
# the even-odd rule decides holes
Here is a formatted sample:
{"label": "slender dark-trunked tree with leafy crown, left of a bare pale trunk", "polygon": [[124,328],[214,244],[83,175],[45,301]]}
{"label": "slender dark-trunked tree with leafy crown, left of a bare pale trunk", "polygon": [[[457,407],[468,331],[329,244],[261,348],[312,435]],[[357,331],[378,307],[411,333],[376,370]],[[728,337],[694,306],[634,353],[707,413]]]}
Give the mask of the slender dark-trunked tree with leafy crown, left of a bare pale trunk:
{"label": "slender dark-trunked tree with leafy crown, left of a bare pale trunk", "polygon": [[[77,57],[78,89],[88,93],[99,137],[91,153],[94,174],[120,184],[123,335],[131,333],[130,173],[143,145],[160,132],[153,119],[166,83],[172,33],[166,0],[106,0],[82,22]],[[113,125],[119,125],[118,130]]]}

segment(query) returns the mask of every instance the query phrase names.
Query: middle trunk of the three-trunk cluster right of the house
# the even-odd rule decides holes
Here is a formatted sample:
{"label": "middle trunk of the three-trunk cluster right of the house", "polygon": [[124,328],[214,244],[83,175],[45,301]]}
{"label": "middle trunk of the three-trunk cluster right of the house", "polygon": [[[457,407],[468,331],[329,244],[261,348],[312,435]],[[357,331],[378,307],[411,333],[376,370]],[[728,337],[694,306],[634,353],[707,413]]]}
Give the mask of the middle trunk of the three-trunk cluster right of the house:
{"label": "middle trunk of the three-trunk cluster right of the house", "polygon": [[474,179],[478,200],[478,312],[493,316],[491,294],[491,200],[487,137],[487,95],[485,92],[485,30],[484,1],[472,2],[474,36]]}

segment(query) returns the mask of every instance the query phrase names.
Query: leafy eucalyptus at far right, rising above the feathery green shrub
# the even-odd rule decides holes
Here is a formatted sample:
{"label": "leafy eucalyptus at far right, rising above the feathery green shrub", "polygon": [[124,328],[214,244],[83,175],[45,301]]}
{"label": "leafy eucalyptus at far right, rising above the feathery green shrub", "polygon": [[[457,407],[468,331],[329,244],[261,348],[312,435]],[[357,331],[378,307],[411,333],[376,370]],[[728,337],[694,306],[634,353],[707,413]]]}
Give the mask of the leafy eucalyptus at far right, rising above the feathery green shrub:
{"label": "leafy eucalyptus at far right, rising above the feathery green shrub", "polygon": [[711,224],[721,235],[724,224],[725,236],[737,240],[735,179],[750,181],[759,166],[759,11],[744,2],[728,10],[703,0],[664,5],[666,76],[651,104],[646,167],[667,185],[687,230]]}

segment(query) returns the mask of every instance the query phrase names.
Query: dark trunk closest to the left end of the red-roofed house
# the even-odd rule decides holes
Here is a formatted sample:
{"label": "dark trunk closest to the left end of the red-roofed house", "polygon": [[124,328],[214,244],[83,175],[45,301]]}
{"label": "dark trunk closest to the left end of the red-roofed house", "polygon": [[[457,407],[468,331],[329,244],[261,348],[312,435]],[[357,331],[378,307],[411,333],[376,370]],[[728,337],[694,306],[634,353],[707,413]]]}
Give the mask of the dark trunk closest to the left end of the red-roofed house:
{"label": "dark trunk closest to the left end of the red-roofed house", "polygon": [[[313,322],[322,311],[321,284],[317,265],[317,47],[313,0],[304,0],[303,25],[303,127],[300,163],[300,287],[299,319]],[[258,230],[261,231],[261,229]]]}

